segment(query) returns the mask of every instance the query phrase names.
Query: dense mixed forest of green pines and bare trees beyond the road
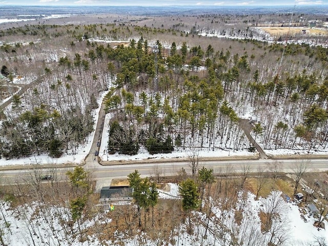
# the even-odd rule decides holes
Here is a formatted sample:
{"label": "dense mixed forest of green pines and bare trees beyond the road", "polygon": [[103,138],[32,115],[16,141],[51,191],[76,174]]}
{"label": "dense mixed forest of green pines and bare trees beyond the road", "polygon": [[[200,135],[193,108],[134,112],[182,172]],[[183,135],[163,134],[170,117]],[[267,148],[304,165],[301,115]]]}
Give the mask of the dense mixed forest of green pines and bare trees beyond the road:
{"label": "dense mixed forest of green pines and bare trees beyond the road", "polygon": [[[224,18],[218,17],[222,25]],[[2,74],[9,85],[15,76],[30,81],[22,95],[3,85],[13,102],[1,113],[1,156],[76,153],[89,141],[104,92],[109,153],[132,155],[140,146],[151,154],[177,147],[252,150],[238,125],[249,112],[264,149],[326,148],[327,48],[267,42],[257,34],[198,36],[204,28],[199,25],[186,30],[184,24],[173,29],[114,22],[1,30],[1,36],[28,40],[1,46]],[[219,29],[252,32],[248,25]]]}

